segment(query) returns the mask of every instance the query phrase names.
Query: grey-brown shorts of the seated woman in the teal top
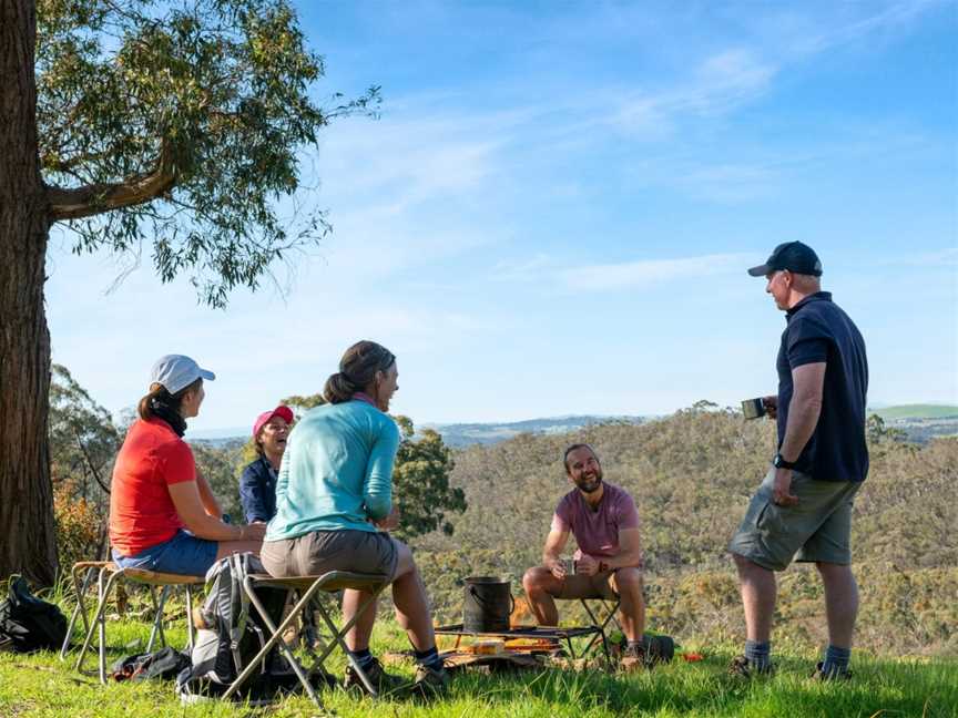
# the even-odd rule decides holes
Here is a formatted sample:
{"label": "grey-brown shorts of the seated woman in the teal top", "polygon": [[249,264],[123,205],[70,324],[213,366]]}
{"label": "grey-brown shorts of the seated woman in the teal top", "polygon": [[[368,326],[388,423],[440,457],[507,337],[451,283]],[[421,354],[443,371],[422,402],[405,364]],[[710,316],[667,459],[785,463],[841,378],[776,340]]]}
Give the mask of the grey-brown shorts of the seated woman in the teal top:
{"label": "grey-brown shorts of the seated woman in the teal top", "polygon": [[396,575],[399,553],[389,534],[373,531],[313,531],[263,542],[259,553],[271,576],[318,576],[327,571]]}

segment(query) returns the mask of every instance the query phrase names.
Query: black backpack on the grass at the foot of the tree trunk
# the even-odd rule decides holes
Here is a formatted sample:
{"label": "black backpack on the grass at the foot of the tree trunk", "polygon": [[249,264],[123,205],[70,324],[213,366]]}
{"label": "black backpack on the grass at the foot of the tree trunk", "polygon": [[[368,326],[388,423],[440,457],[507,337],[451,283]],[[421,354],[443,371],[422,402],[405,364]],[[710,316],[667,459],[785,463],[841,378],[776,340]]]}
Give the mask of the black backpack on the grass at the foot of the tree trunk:
{"label": "black backpack on the grass at the foot of the tree trunk", "polygon": [[55,605],[38,598],[22,576],[11,576],[9,597],[0,603],[0,640],[13,650],[59,650],[67,638],[67,616]]}

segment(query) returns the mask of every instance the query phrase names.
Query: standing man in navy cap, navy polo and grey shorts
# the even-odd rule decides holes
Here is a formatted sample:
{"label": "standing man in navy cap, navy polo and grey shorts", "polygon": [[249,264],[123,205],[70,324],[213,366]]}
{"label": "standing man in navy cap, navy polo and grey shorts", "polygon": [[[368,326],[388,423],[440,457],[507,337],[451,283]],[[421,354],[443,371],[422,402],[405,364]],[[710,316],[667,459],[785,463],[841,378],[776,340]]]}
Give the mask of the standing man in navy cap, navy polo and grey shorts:
{"label": "standing man in navy cap, navy polo and grey shorts", "polygon": [[773,670],[775,571],[814,562],[825,587],[828,648],[816,677],[848,677],[858,586],[852,573],[852,502],[868,473],[865,403],[868,361],[857,327],[822,291],[822,263],[801,242],[778,245],[748,270],[785,311],[778,396],[765,407],[778,422],[778,450],[728,550],[745,607],[745,655],[733,673]]}

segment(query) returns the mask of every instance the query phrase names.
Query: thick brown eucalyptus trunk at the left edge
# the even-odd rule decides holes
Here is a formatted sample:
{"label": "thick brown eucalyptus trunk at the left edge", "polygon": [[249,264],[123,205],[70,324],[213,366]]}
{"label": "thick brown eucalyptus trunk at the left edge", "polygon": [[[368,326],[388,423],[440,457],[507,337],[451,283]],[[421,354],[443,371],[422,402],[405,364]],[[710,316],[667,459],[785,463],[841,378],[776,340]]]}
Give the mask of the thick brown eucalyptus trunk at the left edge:
{"label": "thick brown eucalyptus trunk at the left edge", "polygon": [[0,0],[0,579],[57,572],[47,442],[50,227],[37,145],[37,10]]}

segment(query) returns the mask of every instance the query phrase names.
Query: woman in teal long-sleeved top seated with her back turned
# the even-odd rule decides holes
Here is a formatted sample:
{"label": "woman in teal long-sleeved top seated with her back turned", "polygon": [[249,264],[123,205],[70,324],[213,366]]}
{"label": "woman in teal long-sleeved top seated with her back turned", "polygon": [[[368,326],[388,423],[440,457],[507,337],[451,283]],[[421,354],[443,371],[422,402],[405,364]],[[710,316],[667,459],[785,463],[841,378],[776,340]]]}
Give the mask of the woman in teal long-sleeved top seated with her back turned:
{"label": "woman in teal long-sleeved top seated with her back turned", "polygon": [[[393,505],[393,462],[399,429],[389,416],[398,390],[396,357],[374,341],[343,355],[327,379],[328,403],[312,409],[286,441],[276,481],[276,515],[269,521],[262,558],[274,576],[310,576],[327,571],[385,574],[393,578],[396,617],[406,628],[419,664],[416,685],[435,691],[448,683],[436,650],[426,589],[409,547],[387,533],[399,524]],[[368,595],[347,589],[343,617],[349,620]],[[373,606],[346,636],[353,659],[383,691],[401,679],[386,674],[369,653],[376,620]],[[346,685],[363,687],[350,665]]]}

